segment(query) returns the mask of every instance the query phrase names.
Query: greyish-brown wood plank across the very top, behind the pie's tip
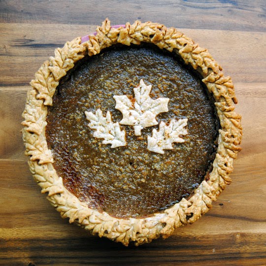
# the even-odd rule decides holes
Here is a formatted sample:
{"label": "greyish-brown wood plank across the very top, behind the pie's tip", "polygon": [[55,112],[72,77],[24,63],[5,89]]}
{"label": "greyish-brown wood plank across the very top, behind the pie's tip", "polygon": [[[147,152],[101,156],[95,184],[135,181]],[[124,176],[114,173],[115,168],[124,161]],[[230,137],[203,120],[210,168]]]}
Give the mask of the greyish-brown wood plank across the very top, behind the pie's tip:
{"label": "greyish-brown wood plank across the very top, behind the pie's tip", "polygon": [[114,24],[140,19],[178,28],[262,32],[265,8],[264,0],[2,0],[0,22],[94,25],[109,17]]}

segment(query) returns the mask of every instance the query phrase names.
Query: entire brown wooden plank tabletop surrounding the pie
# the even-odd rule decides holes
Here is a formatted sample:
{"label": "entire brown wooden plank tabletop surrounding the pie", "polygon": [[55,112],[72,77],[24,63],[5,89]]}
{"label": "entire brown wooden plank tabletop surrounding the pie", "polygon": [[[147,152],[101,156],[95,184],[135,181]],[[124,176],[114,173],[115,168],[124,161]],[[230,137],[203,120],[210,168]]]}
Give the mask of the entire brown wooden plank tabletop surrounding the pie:
{"label": "entire brown wooden plank tabletop surrounding the pie", "polygon": [[[266,265],[265,15],[264,0],[0,1],[0,264]],[[232,76],[242,114],[233,183],[197,223],[140,247],[63,220],[33,181],[20,133],[34,72],[105,17],[174,26],[209,48]]]}

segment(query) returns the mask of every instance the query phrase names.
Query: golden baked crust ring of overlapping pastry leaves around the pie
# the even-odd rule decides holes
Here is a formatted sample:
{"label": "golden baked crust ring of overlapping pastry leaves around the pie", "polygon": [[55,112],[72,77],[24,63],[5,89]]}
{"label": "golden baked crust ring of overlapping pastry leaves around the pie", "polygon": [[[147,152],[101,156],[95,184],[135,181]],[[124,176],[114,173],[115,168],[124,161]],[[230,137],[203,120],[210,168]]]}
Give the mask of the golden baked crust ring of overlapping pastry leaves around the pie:
{"label": "golden baked crust ring of overlapping pastry leaves around the pie", "polygon": [[[209,176],[195,190],[190,199],[182,199],[163,213],[155,213],[147,218],[120,219],[106,212],[90,209],[72,195],[64,186],[63,180],[53,167],[53,156],[47,147],[45,126],[47,106],[52,105],[52,97],[59,80],[66,75],[74,64],[86,54],[100,53],[101,49],[116,43],[124,45],[149,42],[161,49],[179,54],[186,64],[199,71],[202,81],[215,98],[215,106],[220,119],[218,148],[213,169]],[[212,58],[207,49],[200,48],[192,39],[178,32],[175,28],[166,28],[158,23],[127,23],[125,28],[111,28],[106,19],[97,28],[97,35],[90,35],[89,40],[81,43],[81,38],[66,42],[63,48],[55,50],[55,57],[50,57],[35,73],[31,81],[32,89],[27,94],[27,103],[23,112],[23,140],[25,154],[30,156],[29,166],[34,179],[48,193],[48,200],[61,213],[69,218],[70,223],[111,240],[128,245],[151,242],[162,236],[168,237],[180,226],[197,221],[212,207],[226,185],[231,183],[229,174],[233,170],[233,159],[240,151],[242,128],[241,116],[234,112],[235,98],[233,83],[229,76],[224,76],[222,67]]]}

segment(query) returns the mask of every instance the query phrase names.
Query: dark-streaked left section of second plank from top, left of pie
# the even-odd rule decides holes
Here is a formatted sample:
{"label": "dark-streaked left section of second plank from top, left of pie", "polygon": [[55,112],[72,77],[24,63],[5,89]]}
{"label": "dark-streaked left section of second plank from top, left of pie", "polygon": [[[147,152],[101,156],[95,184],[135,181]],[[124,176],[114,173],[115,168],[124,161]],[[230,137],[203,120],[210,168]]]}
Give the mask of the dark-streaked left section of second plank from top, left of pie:
{"label": "dark-streaked left section of second plank from top, left of pie", "polygon": [[28,85],[55,48],[95,30],[84,25],[0,24],[0,86]]}

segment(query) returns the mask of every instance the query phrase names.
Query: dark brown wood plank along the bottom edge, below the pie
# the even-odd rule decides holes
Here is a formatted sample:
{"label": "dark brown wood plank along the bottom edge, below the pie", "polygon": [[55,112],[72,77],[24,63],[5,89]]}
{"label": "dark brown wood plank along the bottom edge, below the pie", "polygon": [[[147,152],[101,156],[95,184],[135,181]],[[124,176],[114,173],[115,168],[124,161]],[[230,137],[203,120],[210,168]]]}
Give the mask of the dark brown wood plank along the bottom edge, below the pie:
{"label": "dark brown wood plank along the bottom edge, below the pie", "polygon": [[[10,260],[2,255],[7,265],[265,265],[266,249],[256,250],[265,235],[225,234],[214,238],[183,237],[156,240],[141,247],[122,247],[98,238],[42,238],[4,242],[2,254],[14,252]],[[216,242],[219,242],[217,245]],[[71,244],[69,244],[71,243]],[[204,247],[202,249],[202,246]],[[40,252],[41,250],[41,252]],[[248,252],[245,252],[248,250]],[[27,254],[27,256],[25,256]],[[77,262],[78,258],[78,262]]]}

